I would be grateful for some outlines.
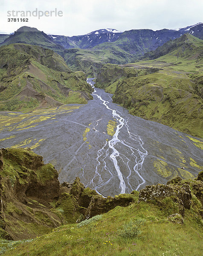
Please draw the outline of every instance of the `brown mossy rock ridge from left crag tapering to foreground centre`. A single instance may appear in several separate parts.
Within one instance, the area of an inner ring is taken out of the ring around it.
[[[0,149],[1,239],[40,236],[62,224],[76,223],[133,201],[135,196],[127,194],[103,198],[85,188],[79,178],[73,184],[60,185],[54,166],[45,165],[33,151]]]

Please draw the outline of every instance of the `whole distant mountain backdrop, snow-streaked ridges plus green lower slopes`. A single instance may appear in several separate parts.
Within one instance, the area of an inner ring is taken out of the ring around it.
[[[99,29],[72,37],[47,35],[38,29],[23,26],[13,35],[0,35],[0,46],[23,43],[52,49],[64,58],[72,70],[82,70],[87,75],[95,76],[104,63],[126,64],[137,61],[146,52],[183,34],[203,39],[203,23],[178,30],[132,29],[121,32],[116,29]]]

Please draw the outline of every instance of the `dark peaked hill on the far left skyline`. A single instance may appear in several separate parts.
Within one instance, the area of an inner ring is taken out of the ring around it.
[[[60,55],[62,55],[64,51],[64,47],[56,44],[53,39],[46,35],[43,31],[39,31],[38,29],[28,26],[23,26],[20,29],[17,29],[17,31],[15,31],[13,35],[6,38],[6,40],[3,41],[0,46],[15,43],[37,45],[51,49]]]

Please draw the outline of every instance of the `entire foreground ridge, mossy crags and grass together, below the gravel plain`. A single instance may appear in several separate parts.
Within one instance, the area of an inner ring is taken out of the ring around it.
[[[79,178],[60,185],[32,151],[7,148],[0,174],[2,255],[201,255],[203,172],[103,198]]]

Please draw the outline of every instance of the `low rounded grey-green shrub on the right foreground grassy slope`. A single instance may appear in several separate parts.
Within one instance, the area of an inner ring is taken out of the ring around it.
[[[133,238],[141,233],[140,227],[145,223],[145,219],[137,218],[124,224],[122,229],[118,230],[118,235],[126,238]]]

